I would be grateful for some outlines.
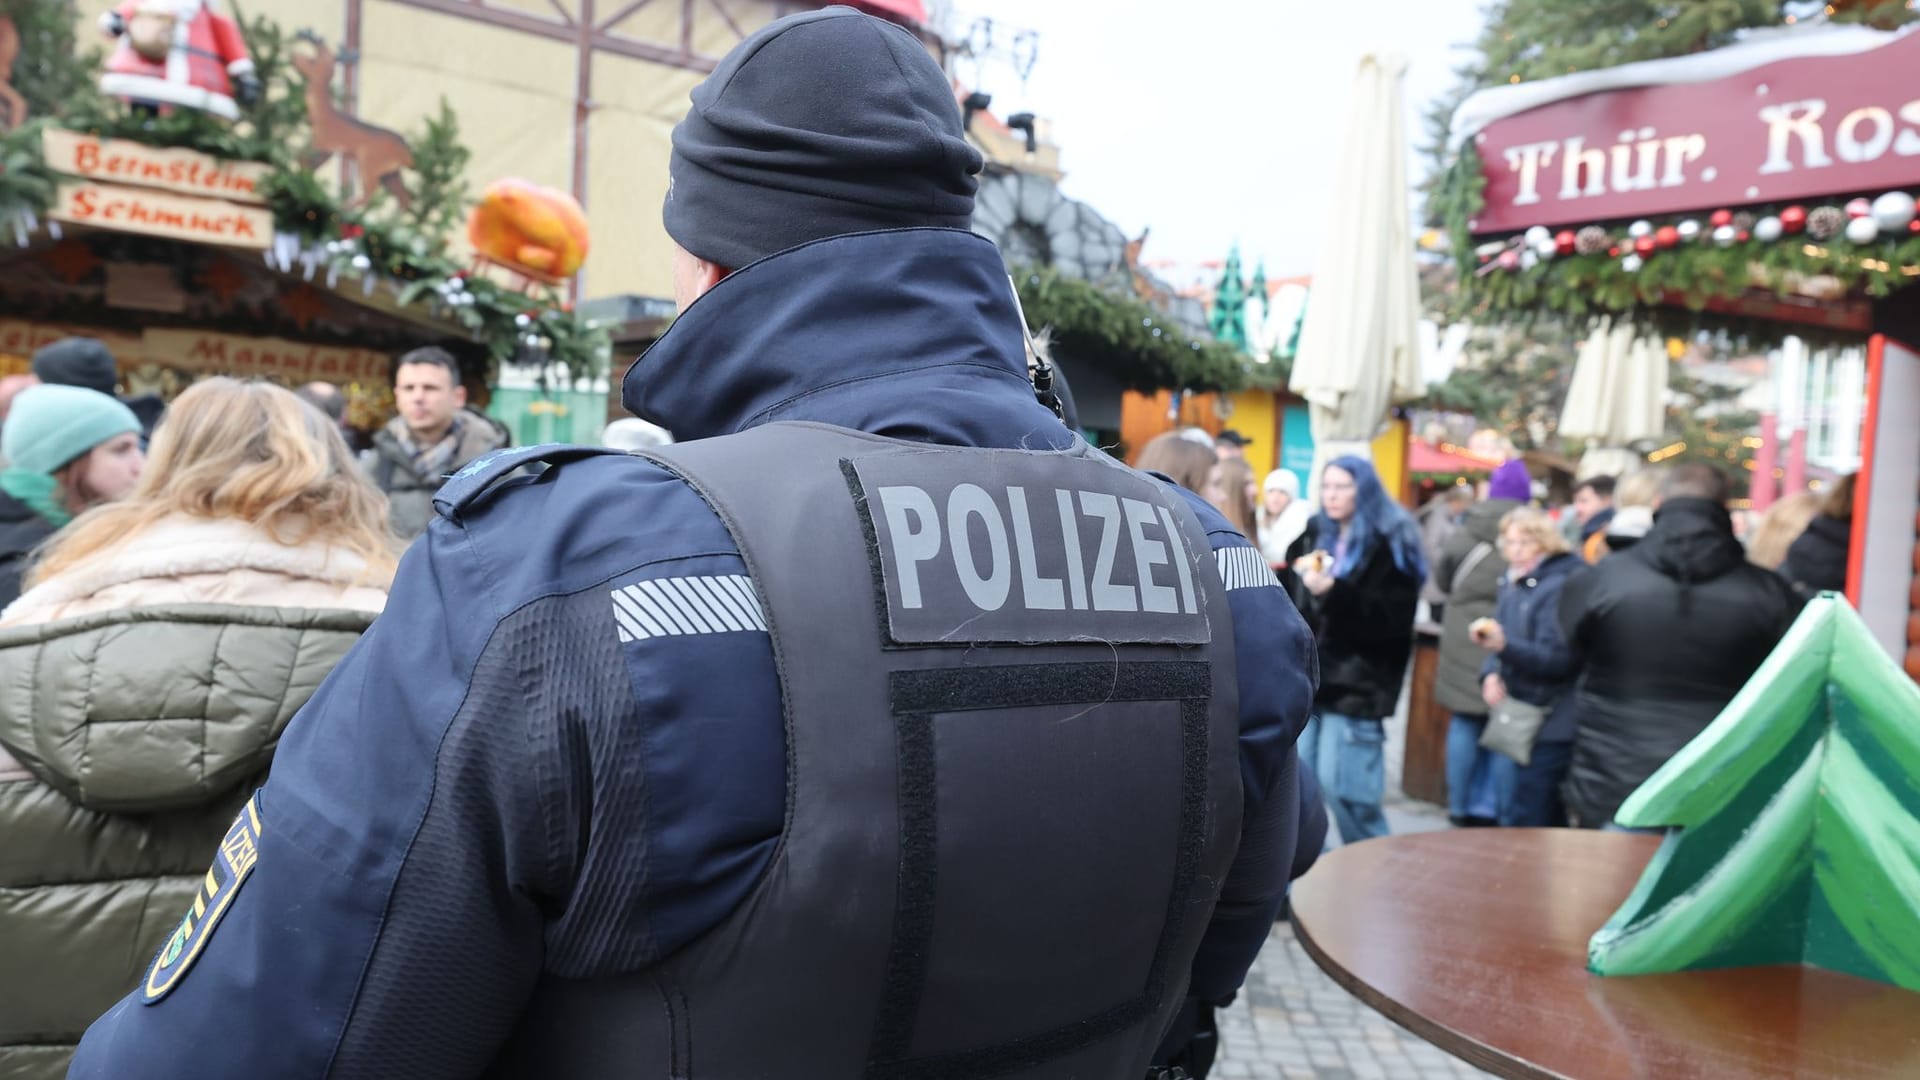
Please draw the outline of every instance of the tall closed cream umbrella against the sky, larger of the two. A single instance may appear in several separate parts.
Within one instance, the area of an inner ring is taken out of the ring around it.
[[[1419,279],[1407,211],[1407,138],[1398,54],[1359,60],[1346,115],[1346,146],[1313,296],[1300,329],[1292,392],[1313,423],[1313,477],[1342,454],[1371,457],[1388,407],[1421,396]]]

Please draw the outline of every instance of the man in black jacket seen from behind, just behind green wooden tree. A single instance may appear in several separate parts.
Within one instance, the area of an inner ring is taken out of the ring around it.
[[[1667,477],[1653,530],[1567,582],[1561,630],[1586,657],[1567,809],[1613,821],[1626,796],[1734,700],[1801,601],[1747,563],[1726,477],[1686,463]]]

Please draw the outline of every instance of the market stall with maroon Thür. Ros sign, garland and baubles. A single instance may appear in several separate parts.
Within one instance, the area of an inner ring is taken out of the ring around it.
[[[1484,311],[1624,313],[1665,332],[1799,342],[1803,413],[1859,363],[1849,600],[1920,676],[1920,35],[1809,25],[1676,60],[1482,90],[1442,202]],[[1789,361],[1791,361],[1789,356]],[[1843,405],[1841,405],[1843,407]],[[1828,432],[1832,434],[1832,430]],[[1791,488],[1807,434],[1757,475]]]

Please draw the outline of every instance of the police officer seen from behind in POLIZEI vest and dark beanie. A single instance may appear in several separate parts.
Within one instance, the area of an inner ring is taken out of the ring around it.
[[[1311,640],[1035,402],[979,167],[845,8],[693,90],[622,386],[693,442],[447,482],[73,1076],[1142,1076],[1235,992]]]

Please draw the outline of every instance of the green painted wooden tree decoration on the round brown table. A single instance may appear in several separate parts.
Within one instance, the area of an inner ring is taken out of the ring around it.
[[[1837,596],[1617,815],[1676,826],[1597,974],[1805,963],[1920,990],[1920,688]]]

